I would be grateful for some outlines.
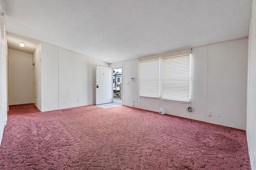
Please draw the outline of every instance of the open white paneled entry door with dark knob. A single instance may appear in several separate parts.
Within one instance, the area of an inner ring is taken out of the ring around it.
[[[111,103],[111,76],[111,68],[96,66],[96,105]]]

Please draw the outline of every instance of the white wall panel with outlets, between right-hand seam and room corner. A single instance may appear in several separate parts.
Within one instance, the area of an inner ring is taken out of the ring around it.
[[[246,129],[248,39],[207,46],[206,121]],[[221,117],[216,117],[221,111]]]

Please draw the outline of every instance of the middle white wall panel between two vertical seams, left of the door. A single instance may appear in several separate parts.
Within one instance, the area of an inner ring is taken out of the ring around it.
[[[60,109],[88,105],[88,57],[62,48],[59,55]]]

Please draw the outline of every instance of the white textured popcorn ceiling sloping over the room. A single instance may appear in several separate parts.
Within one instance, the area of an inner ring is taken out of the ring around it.
[[[251,2],[0,0],[0,5],[8,35],[114,63],[247,37]]]

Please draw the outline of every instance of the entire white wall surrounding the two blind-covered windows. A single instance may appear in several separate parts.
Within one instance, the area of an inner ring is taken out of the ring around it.
[[[134,99],[134,107],[141,109],[158,112],[164,106],[170,115],[246,129],[247,44],[244,38],[193,48],[191,104],[139,97],[138,59],[123,61],[124,105],[131,106]],[[131,77],[135,82],[130,82]],[[186,111],[190,105],[192,113]],[[217,117],[217,111],[222,117]]]

